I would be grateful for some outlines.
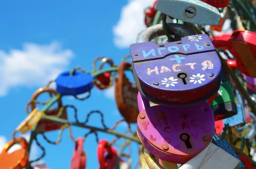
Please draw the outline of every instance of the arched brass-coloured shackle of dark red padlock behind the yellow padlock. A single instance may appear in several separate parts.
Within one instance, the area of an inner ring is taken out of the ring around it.
[[[45,93],[45,92],[53,94],[55,96],[58,95],[58,92],[56,92],[54,89],[51,89],[49,87],[41,87],[41,88],[37,89],[31,97],[31,100],[32,100],[32,102],[30,103],[31,110],[35,109],[34,100],[36,100],[39,95],[41,95],[42,93]],[[58,107],[60,108],[61,106],[62,106],[61,99],[59,99],[58,100]]]

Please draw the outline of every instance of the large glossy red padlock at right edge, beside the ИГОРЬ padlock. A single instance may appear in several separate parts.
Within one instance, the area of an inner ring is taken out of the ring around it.
[[[232,68],[239,69],[250,77],[256,77],[254,65],[256,65],[256,33],[250,31],[236,30],[233,34],[224,34],[212,38],[216,48],[228,49],[236,58]],[[227,63],[231,60],[227,60]],[[236,63],[236,64],[234,64]]]

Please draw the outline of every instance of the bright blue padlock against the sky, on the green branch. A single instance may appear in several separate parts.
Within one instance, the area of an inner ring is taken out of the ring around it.
[[[70,71],[62,72],[55,79],[56,90],[61,95],[80,95],[90,92],[93,88],[93,79],[91,74],[85,74],[78,70],[73,75],[70,75]]]

